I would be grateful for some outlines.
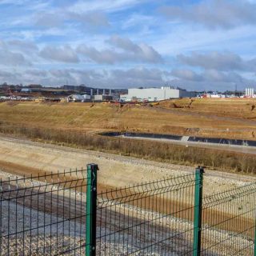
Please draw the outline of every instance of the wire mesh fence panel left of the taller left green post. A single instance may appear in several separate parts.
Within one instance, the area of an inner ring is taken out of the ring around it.
[[[84,255],[86,171],[0,180],[0,255]]]

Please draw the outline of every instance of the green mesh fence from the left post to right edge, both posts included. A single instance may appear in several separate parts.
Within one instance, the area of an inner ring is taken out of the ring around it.
[[[87,167],[86,255],[256,255],[256,183],[204,196],[198,167],[97,194]]]

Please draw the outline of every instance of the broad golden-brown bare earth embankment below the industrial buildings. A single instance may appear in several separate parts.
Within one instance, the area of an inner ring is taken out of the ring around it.
[[[256,140],[256,100],[178,99],[158,105],[2,102],[0,121],[62,130],[128,130]]]

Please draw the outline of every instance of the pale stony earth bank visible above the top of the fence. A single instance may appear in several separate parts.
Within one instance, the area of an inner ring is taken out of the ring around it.
[[[86,168],[87,163],[94,162],[100,168],[98,181],[101,184],[120,187],[194,171],[194,166],[178,166],[17,138],[0,137],[0,145],[0,170],[11,174],[57,172],[76,167],[80,169]],[[206,170],[204,193],[212,194],[253,181],[256,181],[255,176]]]

